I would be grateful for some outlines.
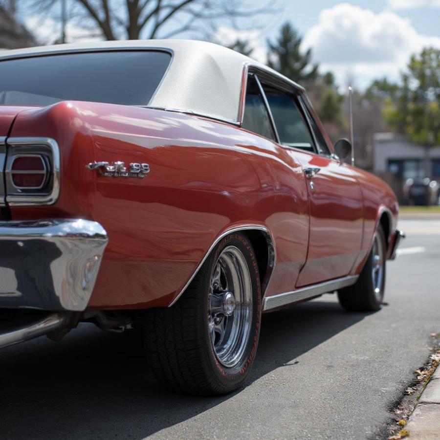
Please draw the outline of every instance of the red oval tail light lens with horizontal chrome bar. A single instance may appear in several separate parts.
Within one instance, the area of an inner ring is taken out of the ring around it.
[[[11,166],[12,182],[19,189],[43,188],[47,167],[39,154],[22,154],[14,158]]]

